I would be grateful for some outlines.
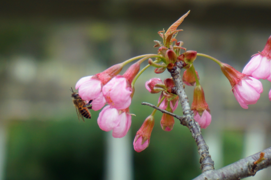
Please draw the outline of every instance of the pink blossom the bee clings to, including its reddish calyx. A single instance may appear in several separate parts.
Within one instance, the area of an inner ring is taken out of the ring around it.
[[[100,110],[105,105],[105,99],[101,92],[102,86],[116,76],[122,70],[122,67],[123,64],[116,64],[94,76],[83,77],[76,83],[75,89],[78,89],[78,94],[84,101],[93,100],[93,110]]]

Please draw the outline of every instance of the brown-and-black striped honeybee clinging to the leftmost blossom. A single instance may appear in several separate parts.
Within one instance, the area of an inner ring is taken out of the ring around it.
[[[71,88],[71,90],[73,92],[73,88]],[[76,113],[78,116],[78,120],[79,117],[83,119],[83,122],[85,122],[83,116],[87,119],[91,119],[91,114],[89,112],[89,109],[92,108],[91,107],[87,107],[90,105],[90,103],[92,102],[92,100],[89,101],[88,104],[86,104],[85,101],[82,100],[82,98],[79,96],[79,94],[77,92],[73,92],[72,94],[72,98],[73,98],[73,104],[76,107]]]

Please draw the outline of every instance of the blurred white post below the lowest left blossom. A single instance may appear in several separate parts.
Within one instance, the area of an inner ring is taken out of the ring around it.
[[[132,145],[130,131],[123,138],[106,136],[106,180],[132,180]]]

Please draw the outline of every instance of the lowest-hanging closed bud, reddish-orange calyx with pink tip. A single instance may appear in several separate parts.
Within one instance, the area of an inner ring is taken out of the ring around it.
[[[134,149],[136,152],[141,152],[149,146],[153,126],[154,117],[149,116],[147,119],[145,119],[143,125],[136,133],[134,140]]]

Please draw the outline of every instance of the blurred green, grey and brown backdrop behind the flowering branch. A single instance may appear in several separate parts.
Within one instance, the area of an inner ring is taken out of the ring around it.
[[[69,88],[81,77],[133,56],[157,53],[157,32],[188,10],[177,40],[239,71],[271,35],[269,0],[1,1],[0,180],[114,179],[108,165],[111,132],[99,129],[99,111],[78,121]],[[262,81],[260,100],[243,110],[215,63],[198,57],[195,68],[212,114],[211,125],[202,132],[215,167],[269,147],[270,82]],[[122,179],[193,179],[201,173],[197,146],[178,121],[165,132],[157,112],[149,147],[133,150],[136,131],[152,112],[141,102],[156,104],[159,97],[148,93],[145,82],[170,77],[153,70],[136,82],[130,107],[136,116],[126,137],[131,171]],[[192,102],[193,88],[185,90]],[[182,115],[180,106],[175,112]],[[271,176],[268,171],[258,174],[258,180]]]

